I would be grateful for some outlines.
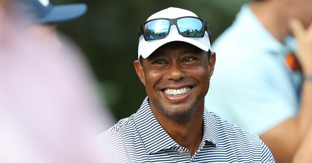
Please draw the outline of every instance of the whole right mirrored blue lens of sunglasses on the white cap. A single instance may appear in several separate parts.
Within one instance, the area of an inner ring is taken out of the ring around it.
[[[201,37],[202,21],[194,17],[184,17],[177,20],[179,31],[183,36]]]

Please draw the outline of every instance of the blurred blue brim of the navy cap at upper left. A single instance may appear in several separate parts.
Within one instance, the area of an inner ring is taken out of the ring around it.
[[[53,6],[43,17],[37,20],[38,23],[62,22],[82,16],[87,11],[86,4],[68,4]]]

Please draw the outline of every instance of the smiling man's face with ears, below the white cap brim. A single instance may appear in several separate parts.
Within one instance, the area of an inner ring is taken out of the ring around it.
[[[150,102],[170,116],[191,113],[203,102],[214,64],[215,53],[209,61],[207,52],[180,41],[159,47],[143,66],[134,62]]]

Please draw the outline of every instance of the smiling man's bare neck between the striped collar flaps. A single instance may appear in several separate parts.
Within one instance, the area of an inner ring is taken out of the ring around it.
[[[169,116],[150,102],[150,107],[163,129],[180,146],[187,148],[193,156],[203,137],[204,100],[186,116]]]

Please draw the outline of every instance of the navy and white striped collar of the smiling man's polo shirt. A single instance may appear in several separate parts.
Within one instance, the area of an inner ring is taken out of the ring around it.
[[[141,107],[137,113],[135,113],[133,120],[135,128],[149,154],[165,149],[180,147],[180,145],[178,145],[178,143],[175,142],[159,124],[149,106],[148,97],[144,99]],[[203,146],[206,141],[212,142],[217,146],[218,130],[216,124],[216,118],[205,108],[203,116],[204,135],[201,146]]]

